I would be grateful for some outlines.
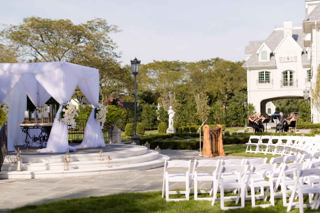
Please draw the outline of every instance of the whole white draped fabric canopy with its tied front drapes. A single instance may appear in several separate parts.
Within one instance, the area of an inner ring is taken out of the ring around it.
[[[66,103],[76,86],[94,107],[98,106],[99,72],[94,68],[68,62],[2,63],[0,64],[0,101],[4,100],[19,81],[35,106],[44,104],[50,96],[58,103]],[[11,106],[10,110],[14,107]],[[47,147],[39,150],[40,152],[66,152],[69,149],[68,127],[58,121],[61,110],[62,107],[57,111]],[[18,126],[20,120],[11,119],[11,113],[9,113],[8,123],[12,122]],[[81,146],[105,146],[100,122],[94,119],[94,109],[85,127]]]

